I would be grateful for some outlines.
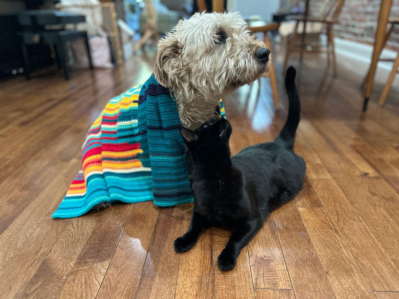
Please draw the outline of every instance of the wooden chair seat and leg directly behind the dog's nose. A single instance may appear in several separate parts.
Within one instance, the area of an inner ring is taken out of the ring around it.
[[[267,32],[270,30],[277,30],[278,27],[280,26],[279,23],[266,23],[264,21],[249,21],[248,22],[248,27],[247,29],[251,33],[255,32],[263,32],[264,36],[264,42],[266,44],[266,47],[270,50],[270,55],[269,59],[272,59],[272,49],[271,49],[271,44],[270,44],[270,39],[267,36]],[[270,64],[270,68],[267,74],[263,74],[263,77],[269,77],[270,78],[270,84],[271,88],[273,91],[273,100],[274,100],[274,106],[276,107],[277,110],[280,109],[280,104],[279,104],[279,99],[278,99],[278,90],[277,90],[277,81],[276,81],[276,72],[274,70],[274,63]]]

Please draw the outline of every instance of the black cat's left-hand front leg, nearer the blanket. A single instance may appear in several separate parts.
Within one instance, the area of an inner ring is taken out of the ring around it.
[[[209,228],[209,221],[198,212],[193,212],[191,216],[190,228],[183,236],[175,240],[175,251],[186,252],[193,248],[197,243],[200,234]]]

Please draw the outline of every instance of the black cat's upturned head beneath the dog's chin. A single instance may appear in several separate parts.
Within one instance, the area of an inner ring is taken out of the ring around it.
[[[231,135],[231,125],[224,118],[204,123],[195,131],[182,127],[180,134],[190,149],[194,163],[217,162],[230,158],[228,140]]]

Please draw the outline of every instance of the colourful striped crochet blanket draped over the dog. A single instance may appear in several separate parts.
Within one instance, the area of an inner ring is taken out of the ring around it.
[[[220,101],[216,112],[224,117]],[[154,75],[113,98],[91,126],[82,170],[53,218],[81,216],[101,202],[193,201],[176,102]]]

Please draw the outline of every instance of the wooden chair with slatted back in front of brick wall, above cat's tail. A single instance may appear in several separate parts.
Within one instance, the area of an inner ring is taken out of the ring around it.
[[[335,63],[335,50],[334,50],[334,31],[332,26],[338,22],[338,17],[341,13],[342,6],[344,5],[344,0],[326,0],[319,11],[317,16],[309,15],[309,0],[306,0],[305,4],[305,14],[303,15],[293,15],[290,16],[288,19],[295,20],[296,24],[294,27],[294,32],[291,38],[288,40],[287,45],[287,52],[285,55],[284,60],[284,68],[283,72],[287,68],[288,58],[292,51],[299,51],[300,52],[300,61],[303,58],[303,51],[308,49],[310,46],[310,51],[308,52],[327,52],[327,61],[328,64],[330,63],[330,54],[333,56],[333,72],[334,76],[337,74],[337,66]],[[303,22],[303,33],[301,35],[301,43],[299,45],[294,45],[293,40],[295,36],[298,34],[298,25],[300,22]],[[320,44],[316,45],[307,45],[305,44],[305,37],[306,37],[306,24],[308,22],[319,22],[326,25],[327,29],[327,48],[322,48]]]

